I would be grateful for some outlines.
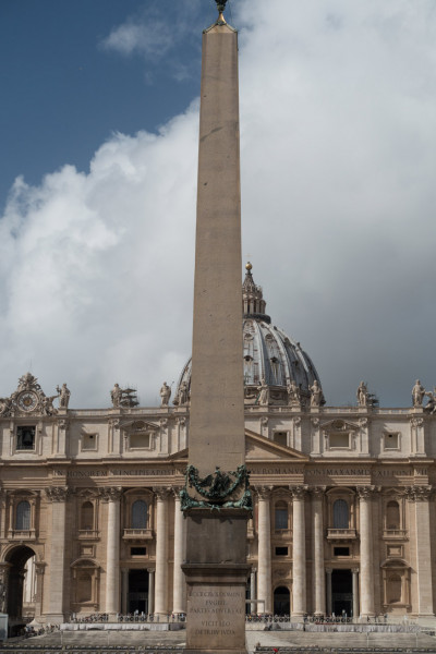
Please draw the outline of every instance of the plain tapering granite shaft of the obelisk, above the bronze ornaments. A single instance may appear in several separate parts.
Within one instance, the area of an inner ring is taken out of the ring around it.
[[[203,35],[190,463],[244,462],[238,35]]]

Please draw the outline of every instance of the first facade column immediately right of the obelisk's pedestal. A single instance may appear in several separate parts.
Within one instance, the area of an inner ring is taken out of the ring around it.
[[[269,488],[257,489],[257,600],[265,602],[265,608],[257,604],[258,613],[272,613],[271,603],[271,518]]]

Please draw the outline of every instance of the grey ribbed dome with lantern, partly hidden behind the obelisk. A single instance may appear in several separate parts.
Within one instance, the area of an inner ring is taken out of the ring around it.
[[[265,313],[262,288],[253,279],[252,265],[249,263],[245,268],[242,284],[245,403],[258,403],[259,386],[266,385],[268,404],[288,404],[288,389],[292,382],[300,390],[302,403],[305,403],[314,382],[320,386],[316,368],[300,342],[271,325],[271,318]],[[174,404],[187,403],[190,388],[191,359],[179,378]]]

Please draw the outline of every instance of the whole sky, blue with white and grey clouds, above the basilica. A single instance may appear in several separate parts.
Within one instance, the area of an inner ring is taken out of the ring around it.
[[[191,354],[213,0],[1,0],[0,397],[142,405]],[[230,0],[243,259],[327,404],[436,385],[434,0]],[[243,270],[241,270],[241,282]]]

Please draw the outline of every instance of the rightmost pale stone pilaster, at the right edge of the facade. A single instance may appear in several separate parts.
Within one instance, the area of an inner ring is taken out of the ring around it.
[[[434,617],[429,505],[431,486],[413,487],[416,519],[417,614]]]

